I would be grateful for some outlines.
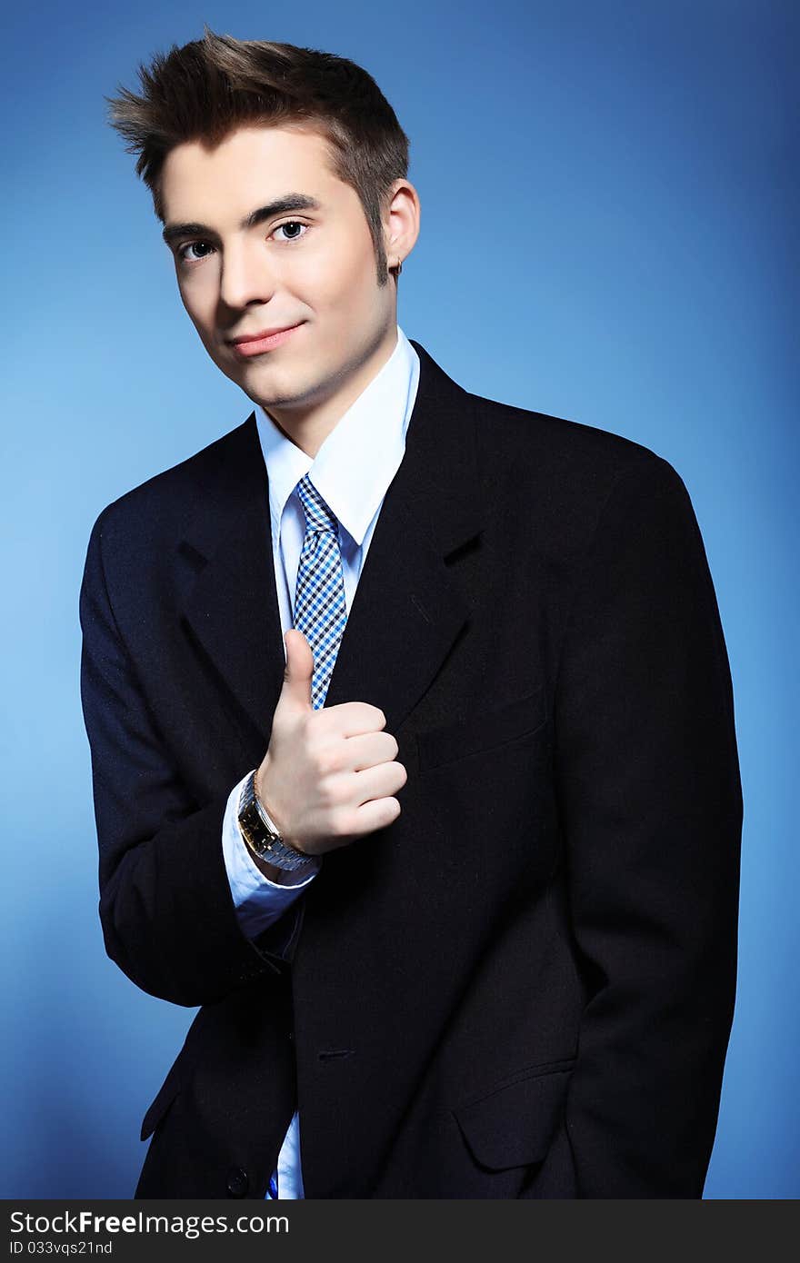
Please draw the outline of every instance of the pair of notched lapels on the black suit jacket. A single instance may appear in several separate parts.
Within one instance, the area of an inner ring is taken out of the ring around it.
[[[378,517],[326,706],[368,701],[396,731],[427,690],[469,608],[446,557],[482,525],[471,397],[417,344],[406,452]],[[221,441],[181,549],[197,571],[192,634],[264,744],[283,682],[269,488],[255,414]]]

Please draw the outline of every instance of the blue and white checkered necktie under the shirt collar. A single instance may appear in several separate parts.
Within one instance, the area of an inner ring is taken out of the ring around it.
[[[311,705],[318,710],[334,672],[336,653],[348,621],[345,581],[339,552],[339,523],[306,474],[297,484],[306,514],[306,537],[300,554],[294,589],[294,628],[313,653]],[[269,1178],[267,1197],[278,1196],[278,1172]]]

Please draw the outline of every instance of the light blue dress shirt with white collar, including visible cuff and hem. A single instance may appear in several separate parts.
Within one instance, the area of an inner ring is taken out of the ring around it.
[[[294,488],[305,474],[339,520],[339,547],[348,613],[385,493],[406,451],[406,431],[417,397],[420,356],[399,328],[387,362],[348,408],[312,458],[276,426],[260,405],[258,433],[269,476],[272,556],[281,610],[281,628],[293,621],[297,568],[306,519]],[[286,653],[286,645],[284,645]],[[358,700],[358,698],[355,698]],[[249,773],[248,773],[249,775]],[[259,871],[236,821],[239,796],[246,777],[230,792],[222,821],[222,854],[239,923],[254,938],[293,903],[320,870],[315,861],[298,879],[287,873],[282,884]],[[278,1154],[278,1196],[303,1196],[297,1110]]]

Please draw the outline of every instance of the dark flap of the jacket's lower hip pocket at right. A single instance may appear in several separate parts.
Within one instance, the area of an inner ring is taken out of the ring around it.
[[[517,1076],[452,1113],[482,1167],[503,1171],[541,1162],[564,1111],[575,1058]]]

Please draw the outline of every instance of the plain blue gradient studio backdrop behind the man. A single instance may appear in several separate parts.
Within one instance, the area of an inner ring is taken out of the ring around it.
[[[0,1194],[124,1197],[192,1013],[97,919],[77,597],[110,500],[231,429],[104,95],[202,34],[364,64],[411,136],[399,321],[470,390],[612,429],[684,477],[727,634],[746,802],[741,967],[708,1197],[796,1197],[799,6],[770,0],[39,4],[4,157]],[[6,19],[8,23],[8,19]],[[39,330],[40,332],[37,332]]]

